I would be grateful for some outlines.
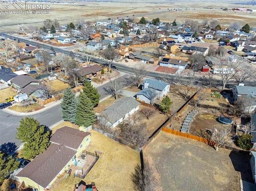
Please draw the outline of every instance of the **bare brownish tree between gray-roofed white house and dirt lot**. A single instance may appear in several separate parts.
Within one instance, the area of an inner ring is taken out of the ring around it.
[[[132,115],[120,124],[120,138],[124,144],[142,147],[147,142],[146,123],[140,123],[136,115]]]

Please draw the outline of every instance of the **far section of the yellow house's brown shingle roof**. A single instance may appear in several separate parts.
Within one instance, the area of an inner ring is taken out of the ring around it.
[[[64,144],[73,149],[78,149],[84,138],[92,133],[83,132],[75,128],[64,126],[53,134],[50,142]]]

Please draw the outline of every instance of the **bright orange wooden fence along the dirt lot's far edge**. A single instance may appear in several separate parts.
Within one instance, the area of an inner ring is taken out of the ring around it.
[[[208,140],[206,138],[198,137],[198,136],[191,135],[191,134],[188,134],[188,133],[182,133],[180,131],[168,129],[168,128],[165,128],[165,127],[162,128],[162,131],[166,132],[166,133],[170,133],[170,134],[176,135],[176,136],[180,136],[180,137],[184,137],[184,138],[200,141],[200,142],[206,143],[208,145],[215,145],[215,142],[212,141],[212,140]]]

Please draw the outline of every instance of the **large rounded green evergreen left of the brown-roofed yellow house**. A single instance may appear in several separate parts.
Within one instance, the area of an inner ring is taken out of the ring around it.
[[[24,143],[21,152],[24,159],[35,158],[50,145],[50,131],[46,131],[45,126],[40,125],[38,120],[34,120],[34,118],[22,118],[17,131],[16,139]]]

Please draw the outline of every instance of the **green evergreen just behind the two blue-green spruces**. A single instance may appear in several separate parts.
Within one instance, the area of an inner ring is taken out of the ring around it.
[[[84,82],[82,93],[90,99],[93,107],[96,107],[99,104],[100,94],[98,93],[98,90],[94,88],[89,81]]]

